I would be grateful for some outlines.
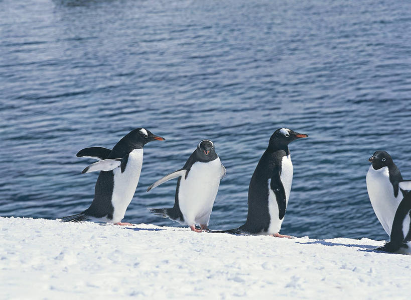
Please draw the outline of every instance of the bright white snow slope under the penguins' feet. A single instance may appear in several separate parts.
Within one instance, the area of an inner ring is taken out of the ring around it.
[[[0,218],[0,298],[409,298],[383,241]]]

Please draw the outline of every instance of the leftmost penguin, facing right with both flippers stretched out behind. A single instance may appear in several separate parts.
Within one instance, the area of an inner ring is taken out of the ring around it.
[[[112,150],[91,147],[80,150],[78,157],[92,157],[99,162],[82,173],[100,171],[94,189],[94,199],[84,212],[62,218],[62,222],[80,222],[94,217],[116,225],[121,223],[139,182],[143,165],[143,147],[151,141],[163,141],[149,130],[137,128],[124,136]]]

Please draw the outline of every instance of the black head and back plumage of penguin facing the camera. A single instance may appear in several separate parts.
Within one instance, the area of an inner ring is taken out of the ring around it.
[[[187,179],[187,176],[191,170],[191,167],[196,162],[209,162],[217,159],[217,153],[215,153],[214,144],[209,140],[202,140],[198,143],[196,150],[191,153],[190,157],[187,159],[186,163],[180,170],[187,170],[186,175],[184,176]],[[172,209],[168,210],[168,215],[170,219],[184,222],[183,214],[180,211],[179,198],[178,194],[180,191],[180,182],[181,177],[177,179],[176,194],[174,196],[174,206]]]

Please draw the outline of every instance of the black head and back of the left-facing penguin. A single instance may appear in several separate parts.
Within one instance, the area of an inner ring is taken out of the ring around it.
[[[386,151],[375,151],[372,157],[369,159],[372,162],[372,167],[378,170],[383,167],[388,167],[389,181],[394,189],[394,196],[398,196],[398,190],[400,189],[398,184],[403,181],[401,172],[395,165],[391,156]],[[402,190],[402,195],[405,196],[406,191]]]

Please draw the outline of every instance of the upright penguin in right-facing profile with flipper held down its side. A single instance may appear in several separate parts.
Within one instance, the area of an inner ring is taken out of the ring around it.
[[[248,188],[248,214],[245,224],[236,229],[213,231],[234,234],[279,234],[286,214],[293,181],[293,163],[288,144],[308,135],[288,128],[277,129],[269,139],[252,174]]]

